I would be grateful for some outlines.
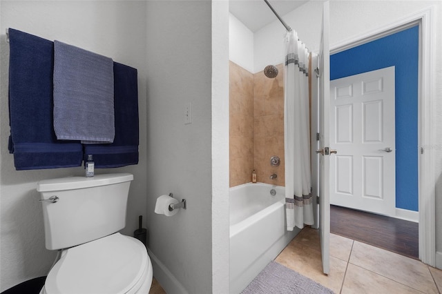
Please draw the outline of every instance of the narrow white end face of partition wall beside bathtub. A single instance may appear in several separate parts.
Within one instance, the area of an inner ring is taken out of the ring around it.
[[[212,293],[229,293],[228,15],[228,1],[212,1]]]

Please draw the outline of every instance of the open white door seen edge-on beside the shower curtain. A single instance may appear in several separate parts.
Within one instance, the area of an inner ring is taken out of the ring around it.
[[[320,251],[323,259],[323,272],[330,271],[330,204],[329,204],[329,89],[330,89],[330,50],[329,50],[329,2],[323,6],[323,25],[318,56],[318,133],[319,147],[323,155],[319,158],[319,236]]]

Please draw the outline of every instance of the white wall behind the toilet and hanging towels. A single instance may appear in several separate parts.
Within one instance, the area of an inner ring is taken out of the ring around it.
[[[55,253],[44,247],[41,206],[35,191],[41,179],[84,175],[84,169],[21,170],[8,153],[8,60],[6,28],[97,52],[138,70],[140,164],[95,173],[135,176],[122,233],[132,235],[138,215],[146,216],[146,2],[144,1],[1,1],[0,2],[0,291],[46,275]]]

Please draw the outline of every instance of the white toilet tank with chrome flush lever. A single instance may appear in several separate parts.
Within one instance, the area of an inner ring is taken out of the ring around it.
[[[46,248],[57,250],[111,235],[126,226],[130,173],[64,177],[37,183],[42,200]]]

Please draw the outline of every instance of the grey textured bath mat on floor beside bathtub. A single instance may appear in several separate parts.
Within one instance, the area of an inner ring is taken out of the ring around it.
[[[334,293],[329,288],[296,273],[277,262],[270,262],[241,294]]]

